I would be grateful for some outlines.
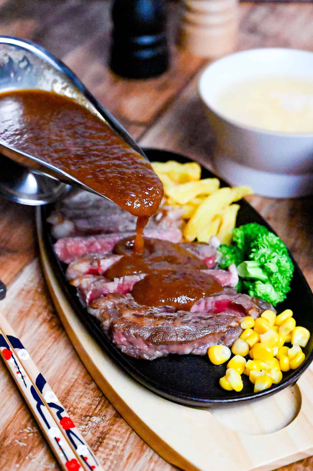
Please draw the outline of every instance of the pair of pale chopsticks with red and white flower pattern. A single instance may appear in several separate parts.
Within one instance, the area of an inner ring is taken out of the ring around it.
[[[102,471],[74,422],[0,312],[0,355],[64,471]]]

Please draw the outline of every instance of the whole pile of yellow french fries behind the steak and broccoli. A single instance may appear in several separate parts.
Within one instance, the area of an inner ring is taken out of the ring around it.
[[[219,188],[217,178],[200,180],[201,167],[196,162],[153,162],[152,167],[164,186],[165,205],[180,208],[181,230],[188,242],[209,242],[217,235],[222,244],[230,244],[238,204],[250,187]]]

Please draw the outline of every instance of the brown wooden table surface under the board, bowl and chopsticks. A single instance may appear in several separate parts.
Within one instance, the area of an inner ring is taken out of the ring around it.
[[[110,72],[107,1],[0,0],[0,34],[30,39],[62,58],[142,145],[181,152],[210,168],[213,140],[196,93],[199,73],[207,61],[176,48],[178,3],[168,2],[168,10],[171,68],[147,81],[123,80]],[[282,46],[313,50],[313,4],[246,2],[240,5],[240,18],[239,49]],[[289,246],[313,288],[313,199],[249,199]],[[8,299],[2,304],[5,315],[104,470],[176,469],[129,427],[87,373],[47,292],[38,259],[34,209],[3,198],[0,278],[9,287]],[[0,469],[59,469],[2,363]],[[280,469],[313,469],[313,457]]]

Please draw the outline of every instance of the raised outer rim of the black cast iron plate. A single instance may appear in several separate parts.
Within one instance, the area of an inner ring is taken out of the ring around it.
[[[165,161],[165,160],[177,160],[178,162],[192,162],[192,159],[182,155],[178,154],[172,151],[167,151],[164,149],[157,149],[157,148],[144,148],[143,149],[145,153],[147,154],[155,154],[152,158],[149,157],[149,160],[160,160],[160,161]],[[166,158],[164,157],[166,155]],[[203,171],[209,172],[212,174],[212,176],[215,176],[212,172],[207,171],[203,166],[202,166]],[[228,186],[223,179],[220,179],[221,185],[223,186]],[[258,218],[263,220],[263,224],[268,227],[270,230],[274,232],[272,227],[269,226],[269,224],[266,222],[265,219],[263,219],[260,214],[254,210],[252,206],[250,206],[249,203],[245,201],[241,201],[241,204],[243,206],[248,206],[250,210],[257,216]],[[49,205],[51,207],[53,205]],[[254,400],[262,399],[267,396],[270,396],[272,394],[275,394],[276,392],[279,392],[283,390],[284,388],[288,386],[294,386],[294,384],[297,382],[297,379],[301,376],[301,374],[304,373],[306,368],[310,365],[310,363],[313,361],[313,349],[310,351],[310,353],[307,355],[305,358],[305,361],[300,365],[297,370],[294,370],[294,372],[291,374],[289,378],[283,379],[282,382],[272,386],[270,389],[261,391],[258,393],[252,393],[250,394],[249,392],[246,395],[241,395],[241,396],[233,396],[231,398],[196,398],[192,397],[188,394],[184,394],[180,391],[173,390],[170,387],[162,386],[163,389],[160,389],[160,385],[158,385],[156,382],[151,380],[150,378],[147,378],[145,374],[139,373],[138,370],[133,367],[133,365],[130,365],[127,363],[127,358],[129,358],[127,355],[123,354],[117,347],[114,346],[114,344],[105,337],[105,335],[102,333],[100,330],[99,325],[95,322],[94,318],[91,315],[86,316],[86,310],[83,308],[83,306],[79,303],[78,298],[73,295],[72,292],[70,292],[71,286],[67,282],[64,271],[62,268],[61,263],[55,256],[55,252],[53,251],[53,241],[52,237],[50,235],[50,231],[45,230],[48,228],[48,225],[46,223],[46,211],[47,207],[42,206],[40,207],[40,215],[41,215],[41,220],[42,220],[42,227],[43,227],[43,242],[46,248],[48,260],[50,262],[50,265],[54,268],[55,271],[55,276],[57,277],[59,284],[63,290],[63,293],[65,294],[67,300],[69,301],[72,309],[74,312],[78,313],[79,319],[83,322],[84,325],[86,325],[89,333],[96,338],[96,341],[100,344],[102,348],[105,349],[106,353],[109,354],[111,358],[114,359],[114,361],[121,366],[131,377],[133,377],[136,381],[140,382],[143,386],[148,388],[149,390],[153,391],[157,395],[172,400],[174,402],[178,402],[183,405],[188,405],[188,406],[201,406],[201,407],[210,407],[212,405],[229,405],[232,403],[240,403],[242,401],[245,402],[251,402]],[[291,259],[293,263],[295,264],[295,272],[297,271],[297,276],[300,277],[301,284],[306,288],[307,292],[310,293],[311,297],[311,303],[313,307],[313,294],[312,291],[307,284],[305,277],[298,267],[297,263],[293,259],[292,255],[290,254]],[[168,357],[167,357],[168,358]],[[149,360],[146,360],[149,361]],[[157,360],[152,360],[152,361],[157,361]],[[233,393],[233,391],[231,391]]]

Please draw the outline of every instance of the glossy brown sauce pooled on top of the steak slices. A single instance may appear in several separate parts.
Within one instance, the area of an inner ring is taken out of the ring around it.
[[[136,253],[133,251],[134,240],[130,237],[115,245],[113,252],[123,257],[105,272],[105,276],[113,280],[145,273],[132,290],[133,298],[139,304],[189,310],[196,300],[223,291],[213,276],[201,271],[207,268],[204,261],[181,245],[143,239],[143,251]]]

